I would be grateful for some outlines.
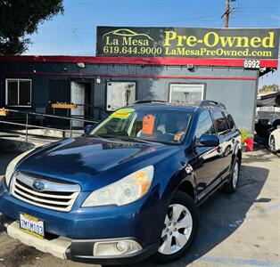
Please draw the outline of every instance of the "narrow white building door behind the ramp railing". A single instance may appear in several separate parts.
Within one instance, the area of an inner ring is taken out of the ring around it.
[[[71,82],[71,103],[78,105],[77,109],[71,109],[71,117],[85,117],[86,85],[78,82]],[[84,127],[84,122],[73,120],[73,127]]]

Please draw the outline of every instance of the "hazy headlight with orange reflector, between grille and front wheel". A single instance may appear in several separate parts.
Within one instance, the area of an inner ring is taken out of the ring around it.
[[[142,198],[150,189],[153,178],[153,166],[146,166],[133,174],[113,182],[102,189],[92,192],[82,207],[123,206]]]

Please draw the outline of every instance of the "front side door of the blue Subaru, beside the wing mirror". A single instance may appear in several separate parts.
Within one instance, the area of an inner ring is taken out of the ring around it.
[[[198,118],[194,133],[194,143],[198,142],[202,134],[216,134],[210,110],[203,110]],[[194,158],[190,164],[194,168],[197,181],[198,198],[203,198],[218,182],[219,159],[218,147],[200,147],[194,145]]]

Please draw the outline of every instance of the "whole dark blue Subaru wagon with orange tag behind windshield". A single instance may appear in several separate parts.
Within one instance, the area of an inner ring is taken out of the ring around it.
[[[167,263],[191,247],[198,206],[235,192],[241,159],[241,134],[218,102],[135,104],[14,158],[0,179],[1,223],[62,259]]]

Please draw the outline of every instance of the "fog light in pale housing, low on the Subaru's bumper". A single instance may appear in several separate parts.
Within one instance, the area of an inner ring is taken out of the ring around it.
[[[135,240],[101,241],[94,246],[94,256],[129,255],[142,250]]]

